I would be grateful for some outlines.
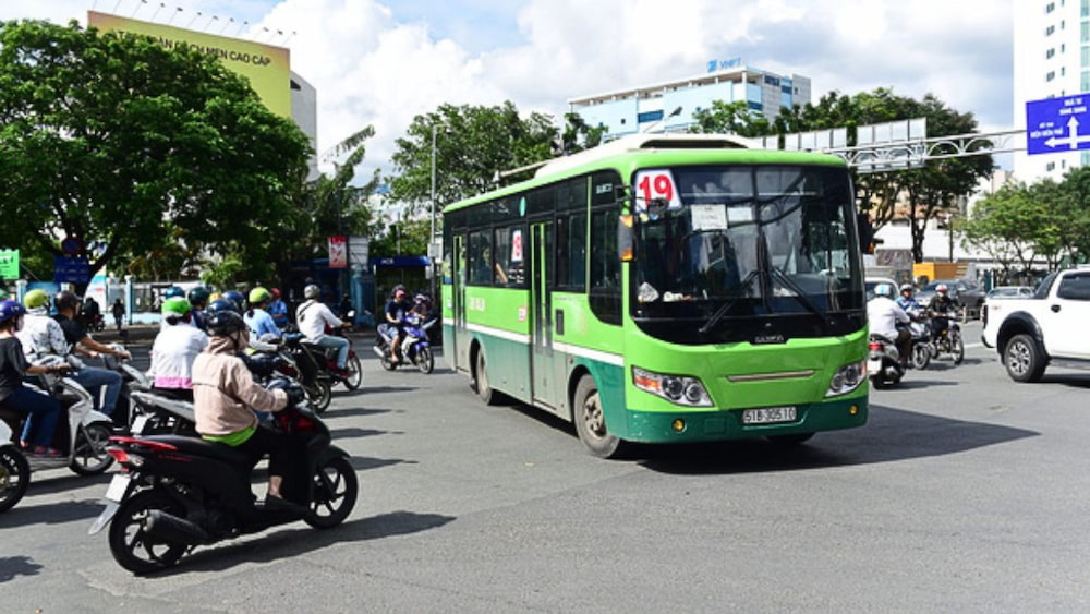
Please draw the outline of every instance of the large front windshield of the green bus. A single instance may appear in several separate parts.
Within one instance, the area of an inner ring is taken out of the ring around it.
[[[637,200],[637,322],[681,318],[706,336],[731,320],[828,321],[863,309],[844,169],[732,165],[654,172],[657,185],[671,182],[665,185],[676,196]]]

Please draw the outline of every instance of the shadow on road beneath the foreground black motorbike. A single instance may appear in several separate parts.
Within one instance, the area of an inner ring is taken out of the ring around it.
[[[194,571],[222,571],[246,563],[289,561],[293,556],[341,543],[363,542],[407,535],[437,529],[455,520],[441,514],[392,511],[372,518],[361,518],[327,531],[316,531],[302,522],[256,539],[242,539],[214,547],[197,550],[182,558],[177,567],[148,576],[164,578]]]

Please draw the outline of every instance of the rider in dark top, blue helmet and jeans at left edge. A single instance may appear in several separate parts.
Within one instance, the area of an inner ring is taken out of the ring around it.
[[[17,301],[0,302],[0,405],[20,413],[29,413],[23,426],[22,445],[32,455],[59,457],[61,453],[49,447],[57,429],[61,405],[57,399],[23,385],[23,376],[55,373],[66,370],[68,364],[49,366],[31,365],[23,353],[23,344],[15,336],[23,326],[26,309]]]

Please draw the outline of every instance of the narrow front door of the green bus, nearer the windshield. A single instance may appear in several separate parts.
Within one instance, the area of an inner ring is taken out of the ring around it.
[[[553,221],[530,226],[530,334],[533,337],[530,356],[534,402],[555,408],[553,376],[553,300],[549,282],[553,253]]]

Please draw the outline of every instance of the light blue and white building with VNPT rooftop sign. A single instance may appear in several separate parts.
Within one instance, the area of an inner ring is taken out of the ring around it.
[[[747,67],[739,59],[708,62],[707,72],[689,79],[607,92],[568,100],[588,125],[604,125],[606,139],[638,132],[681,132],[715,100],[744,100],[772,120],[780,107],[810,103],[810,77],[785,76]]]

